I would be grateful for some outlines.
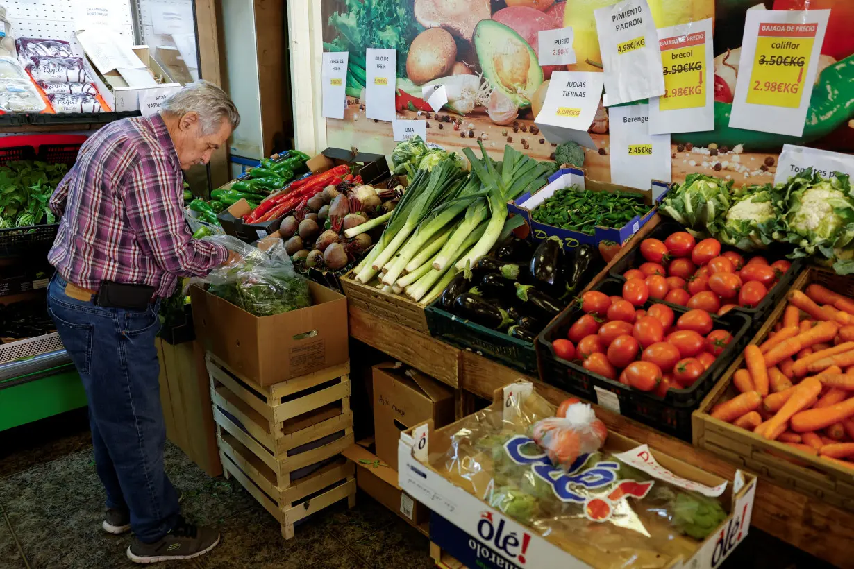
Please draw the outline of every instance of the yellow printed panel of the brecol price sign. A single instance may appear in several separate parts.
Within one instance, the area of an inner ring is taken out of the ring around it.
[[[660,40],[661,62],[664,67],[664,96],[658,108],[705,106],[705,32]]]

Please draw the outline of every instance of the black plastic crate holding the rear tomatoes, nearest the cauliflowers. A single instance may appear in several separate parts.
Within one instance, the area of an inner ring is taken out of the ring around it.
[[[664,241],[668,235],[676,233],[678,231],[684,231],[685,228],[682,227],[681,224],[676,223],[675,221],[663,221],[661,224],[658,224],[658,227],[652,229],[649,235],[646,235],[646,238],[650,239],[658,239],[660,241]],[[699,240],[698,240],[699,241]],[[789,249],[785,247],[783,244],[779,244],[776,247],[772,247],[770,249],[766,249],[763,251],[756,251],[753,253],[746,253],[744,251],[740,251],[740,249],[736,249],[735,247],[727,247],[726,245],[721,246],[721,253],[725,253],[727,251],[734,251],[735,253],[739,253],[745,257],[756,254],[762,255],[764,258],[769,260],[769,263],[773,263],[774,261],[780,259],[786,259],[786,253],[788,253]],[[625,282],[625,278],[623,278],[623,273],[625,273],[629,269],[636,269],[646,262],[646,259],[640,254],[640,241],[632,247],[632,250],[629,251],[623,258],[617,259],[617,261],[611,265],[611,277],[619,279],[620,282]],[[771,311],[774,310],[774,306],[777,304],[777,301],[787,293],[789,287],[792,286],[792,282],[795,279],[795,276],[798,276],[798,273],[803,269],[803,263],[800,259],[791,260],[792,266],[789,267],[789,270],[781,276],[780,281],[769,290],[768,294],[765,295],[765,298],[762,299],[756,308],[742,308],[738,306],[733,309],[733,311],[740,312],[747,316],[751,322],[751,329],[756,330],[765,320],[768,318]],[[664,302],[664,300],[659,300],[658,302]],[[664,302],[664,304],[669,305],[670,308],[678,308],[679,305],[675,305],[670,302]]]

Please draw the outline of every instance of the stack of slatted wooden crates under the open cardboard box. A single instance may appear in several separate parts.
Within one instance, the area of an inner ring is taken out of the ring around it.
[[[355,503],[349,363],[259,386],[208,352],[213,418],[226,478],[234,477],[282,525],[347,498]]]

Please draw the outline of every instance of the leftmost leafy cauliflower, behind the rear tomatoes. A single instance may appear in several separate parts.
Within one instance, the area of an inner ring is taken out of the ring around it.
[[[732,180],[689,174],[684,183],[670,190],[659,210],[695,237],[714,235],[718,218],[723,218],[729,209],[732,185]]]

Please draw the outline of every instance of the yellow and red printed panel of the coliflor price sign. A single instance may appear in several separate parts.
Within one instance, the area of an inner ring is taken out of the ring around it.
[[[759,25],[747,102],[800,107],[817,29],[817,24]]]

